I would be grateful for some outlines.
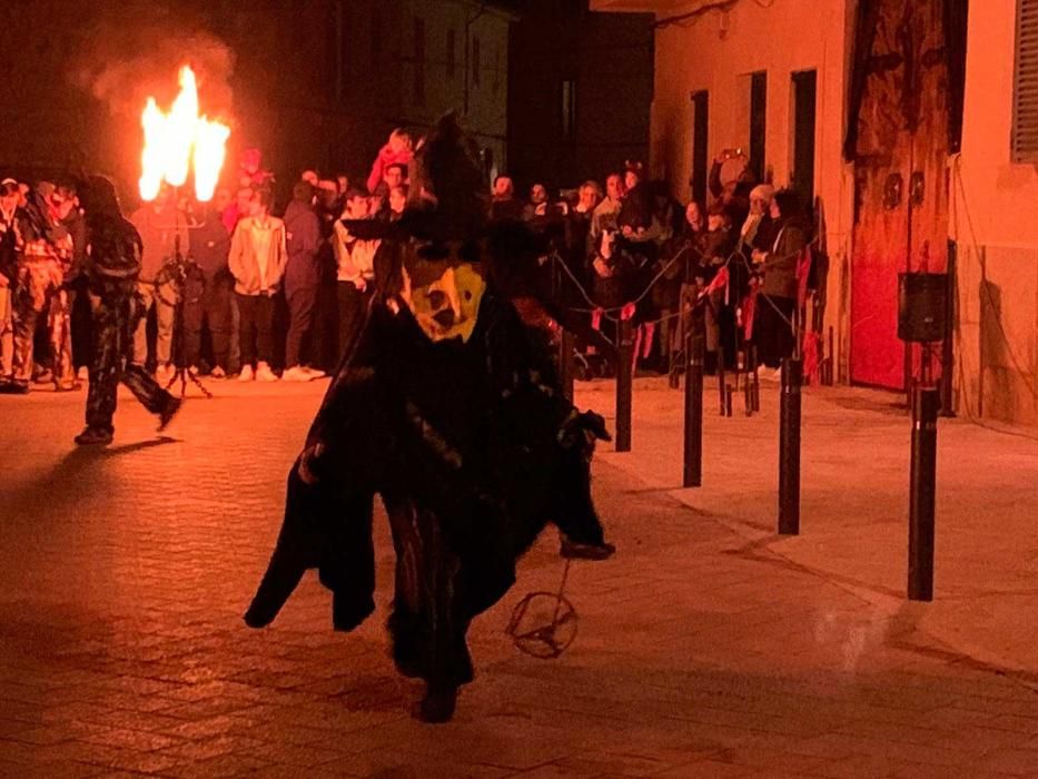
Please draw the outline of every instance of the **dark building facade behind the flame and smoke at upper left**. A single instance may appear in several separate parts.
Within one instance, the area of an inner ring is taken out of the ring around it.
[[[421,135],[462,111],[504,164],[508,3],[478,0],[126,0],[7,3],[0,37],[0,167],[83,166],[130,195],[147,95],[199,71],[201,109],[233,127],[229,159],[259,147],[279,179],[305,168],[355,180],[389,131]],[[29,45],[27,45],[29,43]]]

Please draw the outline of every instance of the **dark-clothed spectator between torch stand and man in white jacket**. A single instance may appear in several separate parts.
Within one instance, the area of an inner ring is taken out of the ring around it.
[[[202,325],[209,328],[212,364],[209,375],[224,378],[230,359],[230,297],[234,279],[227,268],[230,234],[218,206],[210,206],[200,225],[191,229],[190,255],[194,266],[184,289],[184,357],[196,368],[201,363]]]

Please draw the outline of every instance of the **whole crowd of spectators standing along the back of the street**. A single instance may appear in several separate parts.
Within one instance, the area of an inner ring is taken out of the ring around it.
[[[612,325],[630,318],[639,358],[668,369],[689,300],[704,304],[708,367],[749,343],[773,367],[791,352],[810,224],[791,191],[758,184],[745,165],[722,180],[735,157],[718,158],[709,207],[676,201],[634,161],[604,188],[533,183],[520,198],[507,176],[493,181],[493,219],[544,237],[543,274],[531,283],[579,334],[585,361],[614,362]],[[142,204],[131,218],[144,246],[134,362],[160,383],[177,365],[241,382],[309,382],[334,369],[374,289],[378,248],[344,219],[401,218],[412,158],[411,137],[396,130],[362,184],[303,171],[280,217],[256,150],[243,156],[237,188],[209,204],[171,189]],[[70,391],[87,378],[90,323],[76,312],[88,252],[73,185],[0,185],[0,392]]]

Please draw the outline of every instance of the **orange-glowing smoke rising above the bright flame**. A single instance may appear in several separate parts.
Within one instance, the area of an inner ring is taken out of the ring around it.
[[[190,65],[198,77],[202,112],[210,119],[233,118],[234,52],[207,29],[190,2],[122,0],[91,6],[70,78],[113,116],[139,117],[148,96],[168,106],[178,90],[180,67]]]

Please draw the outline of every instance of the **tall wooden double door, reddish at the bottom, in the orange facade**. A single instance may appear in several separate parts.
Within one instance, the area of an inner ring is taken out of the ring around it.
[[[948,72],[942,0],[876,1],[858,116],[851,381],[902,389],[912,353],[897,337],[898,274],[947,265]]]

